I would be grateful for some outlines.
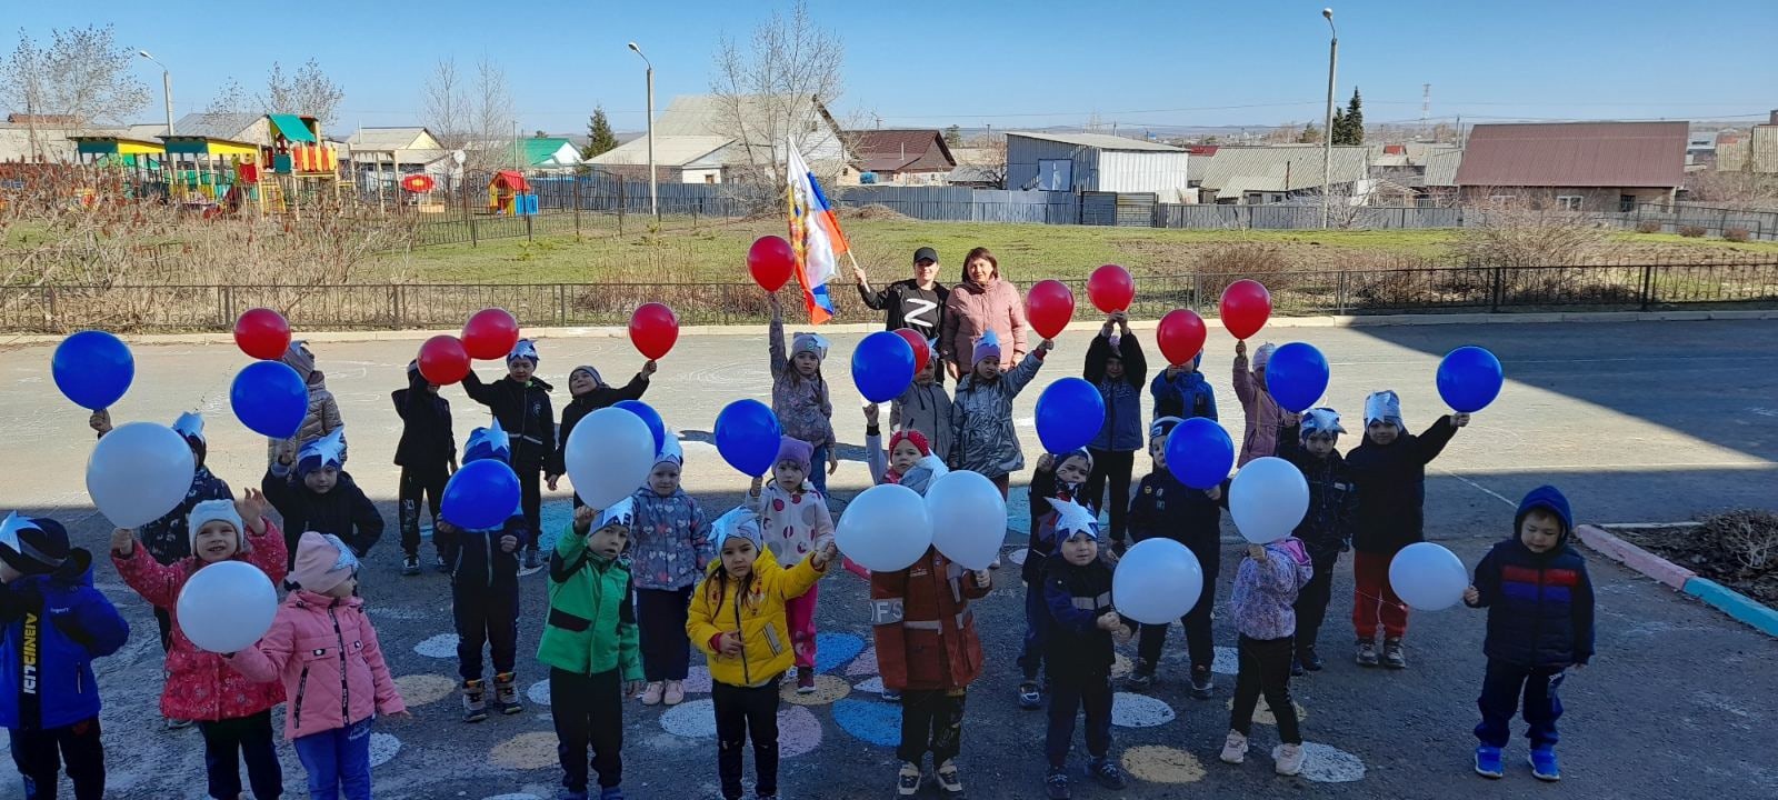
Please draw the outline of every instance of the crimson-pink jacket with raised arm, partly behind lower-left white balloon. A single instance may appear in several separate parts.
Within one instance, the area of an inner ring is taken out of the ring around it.
[[[272,585],[284,580],[284,535],[265,521],[265,533],[247,535],[247,551],[235,555],[236,562],[260,567]],[[197,556],[187,556],[172,564],[160,564],[148,555],[142,542],[128,556],[112,553],[112,564],[123,581],[140,594],[142,599],[178,612],[180,590],[203,564]],[[172,617],[172,649],[167,651],[167,688],[160,692],[160,713],[172,720],[236,720],[252,716],[272,706],[284,702],[284,688],[276,683],[258,683],[228,667],[228,661],[215,654],[199,651],[192,640],[185,638],[178,615]]]

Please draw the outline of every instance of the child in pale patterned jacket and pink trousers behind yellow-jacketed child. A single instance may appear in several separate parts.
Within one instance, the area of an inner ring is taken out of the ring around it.
[[[754,478],[747,492],[747,508],[759,516],[765,546],[781,564],[795,564],[834,539],[834,514],[827,510],[827,496],[809,485],[809,443],[789,436],[779,439],[779,455],[772,464],[772,484],[761,487]],[[814,603],[820,587],[797,592],[784,604],[789,624],[789,642],[797,651],[797,693],[814,693]],[[695,638],[693,638],[695,642]]]

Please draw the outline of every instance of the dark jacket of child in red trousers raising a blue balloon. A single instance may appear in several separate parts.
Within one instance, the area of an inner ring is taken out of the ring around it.
[[[1346,453],[1358,489],[1358,523],[1351,546],[1362,553],[1394,555],[1426,539],[1426,464],[1451,443],[1456,427],[1440,416],[1424,434],[1403,430],[1387,446],[1371,437]]]

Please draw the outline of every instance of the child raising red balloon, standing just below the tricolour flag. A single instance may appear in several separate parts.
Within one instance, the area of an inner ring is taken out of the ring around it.
[[[777,302],[777,295],[768,297],[772,300],[772,411],[777,414],[784,436],[807,443],[811,460],[827,466],[827,471],[809,475],[814,491],[827,494],[827,476],[839,469],[839,450],[834,448],[834,400],[829,396],[827,379],[821,377],[827,340],[800,332],[791,340],[789,356],[786,356],[784,306]],[[770,539],[770,528],[766,528],[766,535]]]

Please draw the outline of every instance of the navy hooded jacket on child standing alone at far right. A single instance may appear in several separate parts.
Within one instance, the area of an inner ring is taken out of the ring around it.
[[[1561,517],[1561,539],[1547,553],[1533,553],[1518,526],[1533,508]],[[1568,544],[1574,519],[1568,500],[1554,487],[1538,487],[1518,503],[1513,537],[1499,542],[1476,565],[1476,606],[1488,608],[1488,638],[1481,651],[1518,667],[1568,667],[1593,658],[1593,581],[1586,558]]]

